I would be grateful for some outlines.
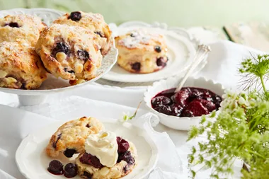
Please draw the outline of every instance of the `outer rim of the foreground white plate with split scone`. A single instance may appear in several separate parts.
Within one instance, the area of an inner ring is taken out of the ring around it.
[[[103,120],[106,120],[105,122],[108,122],[108,120],[110,122],[113,123],[118,123],[120,122],[120,120],[116,120],[113,118],[100,118],[101,122]],[[46,125],[45,127],[42,127],[40,129],[35,130],[34,132],[31,132],[30,134],[28,134],[26,137],[24,137],[21,141],[21,143],[19,144],[18,148],[16,149],[16,154],[15,154],[15,162],[16,162],[16,166],[18,167],[18,171],[20,171],[20,173],[27,179],[35,179],[35,178],[30,178],[30,175],[28,173],[26,173],[26,166],[23,165],[22,161],[22,152],[25,150],[25,146],[27,146],[28,142],[31,142],[34,138],[35,138],[35,134],[38,134],[39,132],[42,132],[43,130],[47,129],[48,127],[51,126],[60,126],[63,125],[65,122],[68,122],[70,120],[58,120],[55,122],[50,123],[49,125]],[[154,168],[156,167],[156,164],[159,160],[159,150],[158,147],[156,146],[156,143],[154,142],[154,139],[152,139],[148,132],[146,131],[146,129],[137,127],[135,125],[133,125],[130,122],[127,122],[128,125],[132,126],[132,127],[136,127],[137,129],[139,129],[140,131],[142,131],[142,137],[144,138],[144,140],[147,142],[147,144],[149,144],[150,148],[151,148],[151,157],[150,157],[150,161],[149,161],[149,168],[147,168],[144,174],[142,174],[139,178],[135,177],[135,179],[143,179],[144,177],[146,177],[147,175],[149,175],[149,173],[151,173],[151,171],[154,170]],[[24,171],[25,170],[25,171]]]

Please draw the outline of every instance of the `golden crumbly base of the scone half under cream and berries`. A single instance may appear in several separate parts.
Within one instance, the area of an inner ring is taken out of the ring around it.
[[[127,163],[126,161],[120,161],[119,163],[116,163],[115,166],[108,168],[104,166],[103,168],[94,168],[93,166],[81,163],[79,161],[79,158],[83,155],[80,154],[76,158],[76,164],[79,168],[79,175],[82,178],[86,178],[86,175],[84,175],[84,172],[89,173],[91,175],[91,179],[115,179],[115,178],[121,178],[130,172],[137,166],[137,149],[135,148],[135,145],[132,144],[132,142],[129,142],[130,148],[128,151],[130,151],[132,157],[135,159],[135,163]]]

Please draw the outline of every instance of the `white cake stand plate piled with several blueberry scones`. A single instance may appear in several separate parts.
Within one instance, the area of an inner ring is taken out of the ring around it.
[[[56,18],[59,18],[64,14],[64,12],[57,11],[50,8],[14,8],[11,10],[4,10],[0,11],[0,18],[3,18],[6,15],[13,15],[13,14],[30,14],[33,16],[38,16],[42,18],[42,20],[47,24],[50,25],[52,21]],[[57,93],[66,90],[70,90],[73,88],[77,88],[79,86],[85,86],[88,83],[92,83],[97,79],[100,79],[101,76],[106,74],[110,69],[113,67],[115,62],[117,62],[118,57],[118,50],[115,48],[115,44],[111,48],[110,52],[105,55],[102,61],[102,66],[96,71],[96,78],[91,79],[85,83],[81,83],[79,85],[70,86],[68,80],[64,79],[57,79],[52,75],[49,75],[47,80],[42,83],[42,86],[37,90],[21,90],[21,89],[9,89],[9,88],[0,88],[0,91],[6,93],[14,93],[23,96],[44,96],[48,93]]]

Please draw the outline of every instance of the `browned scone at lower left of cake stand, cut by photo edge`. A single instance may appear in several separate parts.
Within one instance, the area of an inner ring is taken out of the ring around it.
[[[0,87],[35,89],[47,79],[33,47],[18,42],[0,42]]]

